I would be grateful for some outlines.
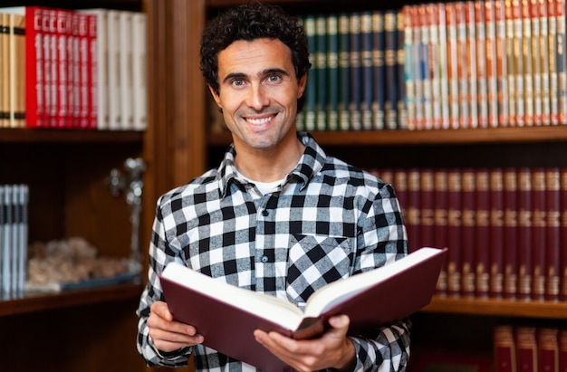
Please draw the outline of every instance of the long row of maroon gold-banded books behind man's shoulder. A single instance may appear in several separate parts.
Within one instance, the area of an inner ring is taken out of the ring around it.
[[[567,168],[370,171],[395,187],[410,251],[448,248],[439,295],[567,300]]]

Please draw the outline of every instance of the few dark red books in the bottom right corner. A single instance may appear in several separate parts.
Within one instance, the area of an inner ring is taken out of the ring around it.
[[[560,372],[567,369],[567,329],[498,324],[495,372]]]

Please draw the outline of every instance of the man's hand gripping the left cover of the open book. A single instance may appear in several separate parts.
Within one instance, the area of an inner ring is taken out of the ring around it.
[[[154,302],[149,310],[149,337],[159,350],[170,352],[203,342],[195,327],[173,320],[166,302]]]

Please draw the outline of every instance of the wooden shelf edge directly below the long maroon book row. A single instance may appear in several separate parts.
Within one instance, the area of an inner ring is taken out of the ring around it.
[[[422,311],[539,319],[567,319],[567,302],[482,300],[436,296]]]

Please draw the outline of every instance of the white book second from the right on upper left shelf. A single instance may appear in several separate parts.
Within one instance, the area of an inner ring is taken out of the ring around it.
[[[120,129],[130,130],[134,127],[132,100],[132,13],[120,11]]]

